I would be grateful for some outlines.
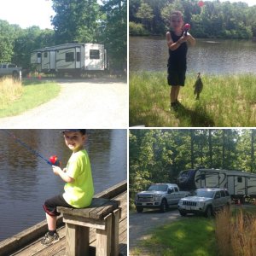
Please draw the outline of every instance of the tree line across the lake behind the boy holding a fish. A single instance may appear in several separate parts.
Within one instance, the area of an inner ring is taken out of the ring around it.
[[[131,35],[161,35],[169,28],[173,10],[183,13],[196,38],[252,38],[256,36],[256,5],[229,1],[130,0]]]

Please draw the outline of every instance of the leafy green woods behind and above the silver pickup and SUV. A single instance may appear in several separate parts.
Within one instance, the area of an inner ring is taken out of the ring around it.
[[[255,130],[130,130],[131,191],[198,166],[256,172]]]

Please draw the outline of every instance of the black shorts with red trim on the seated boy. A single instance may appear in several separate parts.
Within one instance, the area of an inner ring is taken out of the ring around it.
[[[44,212],[50,216],[59,216],[61,213],[57,212],[57,207],[74,208],[65,201],[63,195],[54,196],[44,202]]]

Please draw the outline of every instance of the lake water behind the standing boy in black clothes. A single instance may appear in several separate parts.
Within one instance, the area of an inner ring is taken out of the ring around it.
[[[166,38],[130,37],[130,72],[165,71]],[[256,43],[251,40],[196,39],[189,47],[188,73],[256,73]]]

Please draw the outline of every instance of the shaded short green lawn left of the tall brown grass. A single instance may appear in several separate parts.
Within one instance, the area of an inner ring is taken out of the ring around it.
[[[207,218],[183,218],[152,231],[140,241],[133,253],[163,256],[216,256],[214,221]]]

